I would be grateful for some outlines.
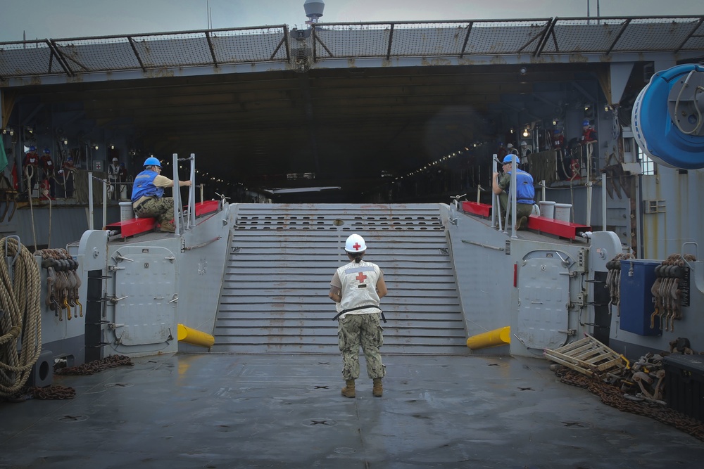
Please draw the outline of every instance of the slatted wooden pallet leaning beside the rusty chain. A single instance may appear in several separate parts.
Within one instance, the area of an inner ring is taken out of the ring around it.
[[[619,354],[589,334],[582,340],[554,350],[546,349],[543,353],[552,361],[596,378],[625,366]]]

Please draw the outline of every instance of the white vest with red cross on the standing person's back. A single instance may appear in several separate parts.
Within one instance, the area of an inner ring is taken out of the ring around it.
[[[360,261],[350,262],[337,269],[337,275],[342,283],[342,301],[335,304],[337,312],[346,309],[353,309],[363,306],[378,307],[379,294],[377,293],[377,281],[381,276],[381,270],[377,264]],[[346,314],[369,314],[377,313],[379,309],[357,309]]]

